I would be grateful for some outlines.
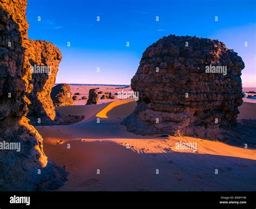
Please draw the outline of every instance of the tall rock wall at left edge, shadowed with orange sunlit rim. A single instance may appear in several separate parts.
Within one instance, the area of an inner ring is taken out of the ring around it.
[[[42,137],[25,117],[30,103],[26,94],[32,89],[24,50],[28,35],[25,9],[25,0],[0,0],[1,191],[55,189],[66,178],[65,171],[45,156]],[[10,143],[16,149],[10,150]]]

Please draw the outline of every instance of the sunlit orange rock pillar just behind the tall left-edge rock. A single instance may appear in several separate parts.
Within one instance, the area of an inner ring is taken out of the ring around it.
[[[62,54],[58,48],[42,40],[24,40],[25,59],[31,65],[33,89],[28,98],[31,101],[28,118],[31,123],[55,120],[56,110],[51,99],[51,89],[55,83]]]

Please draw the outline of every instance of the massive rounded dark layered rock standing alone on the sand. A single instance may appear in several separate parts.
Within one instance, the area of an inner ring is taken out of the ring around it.
[[[218,40],[159,39],[143,53],[131,80],[138,106],[122,124],[136,134],[215,138],[237,123],[243,68],[237,53]]]

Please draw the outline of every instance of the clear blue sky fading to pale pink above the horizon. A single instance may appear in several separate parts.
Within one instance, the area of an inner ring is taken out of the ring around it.
[[[26,12],[29,38],[62,52],[56,83],[130,85],[146,47],[176,34],[223,41],[245,62],[242,86],[256,87],[254,0],[28,0]]]

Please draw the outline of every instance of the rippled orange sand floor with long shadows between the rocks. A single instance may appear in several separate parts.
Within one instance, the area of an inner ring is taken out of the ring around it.
[[[255,119],[255,105],[244,102],[240,119]],[[192,137],[134,135],[119,123],[135,107],[133,99],[58,107],[85,120],[36,127],[45,154],[69,172],[58,191],[256,190],[255,149]],[[197,151],[177,150],[180,141],[196,142]]]

